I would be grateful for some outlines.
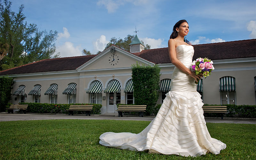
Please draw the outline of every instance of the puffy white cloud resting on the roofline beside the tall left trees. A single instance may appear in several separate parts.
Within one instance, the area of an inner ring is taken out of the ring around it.
[[[61,46],[56,47],[56,52],[60,52],[60,57],[73,57],[73,56],[82,56],[82,47],[74,46],[71,42],[65,42]]]

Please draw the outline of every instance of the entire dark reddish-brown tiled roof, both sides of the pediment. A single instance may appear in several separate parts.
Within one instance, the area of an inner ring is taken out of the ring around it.
[[[256,39],[198,44],[193,46],[195,50],[193,60],[198,57],[208,57],[211,60],[256,57]],[[171,63],[168,48],[143,50],[132,54],[156,64]],[[0,72],[0,75],[75,70],[95,56],[96,55],[89,55],[40,60],[20,67],[4,70]]]

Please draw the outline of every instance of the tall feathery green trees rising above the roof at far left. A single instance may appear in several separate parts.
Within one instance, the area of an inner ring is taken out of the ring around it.
[[[36,24],[27,24],[22,13],[24,5],[20,5],[17,13],[11,5],[10,1],[0,0],[0,69],[58,57],[58,53],[54,55],[57,31],[40,31]]]

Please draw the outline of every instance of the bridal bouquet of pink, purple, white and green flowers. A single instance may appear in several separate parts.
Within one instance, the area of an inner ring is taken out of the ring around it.
[[[207,76],[210,76],[212,73],[213,62],[209,60],[208,58],[197,58],[193,61],[192,66],[190,67],[191,71],[196,72],[196,75],[203,73],[203,76],[206,78]],[[195,84],[198,84],[199,79],[197,79],[197,82],[195,81]]]

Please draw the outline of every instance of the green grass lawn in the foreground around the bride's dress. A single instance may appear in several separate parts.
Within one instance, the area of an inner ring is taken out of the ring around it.
[[[256,125],[207,123],[213,138],[227,144],[219,155],[148,154],[99,144],[104,132],[141,132],[150,122],[121,120],[36,120],[0,122],[0,159],[256,159]]]

